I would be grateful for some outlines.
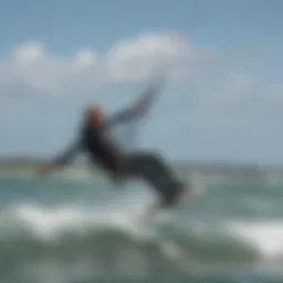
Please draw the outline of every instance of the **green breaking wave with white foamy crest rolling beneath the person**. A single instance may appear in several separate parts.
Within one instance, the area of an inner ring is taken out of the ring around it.
[[[168,271],[250,264],[262,256],[259,247],[235,237],[224,224],[191,222],[190,230],[176,229],[168,217],[155,223],[146,221],[143,212],[74,206],[7,208],[0,219],[0,266],[22,266],[44,259],[62,263],[87,259],[99,270]]]

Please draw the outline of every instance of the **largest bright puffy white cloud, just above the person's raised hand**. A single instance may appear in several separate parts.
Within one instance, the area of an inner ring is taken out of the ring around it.
[[[114,80],[137,80],[150,76],[158,64],[172,74],[191,55],[191,44],[184,36],[148,34],[115,44],[107,66]]]

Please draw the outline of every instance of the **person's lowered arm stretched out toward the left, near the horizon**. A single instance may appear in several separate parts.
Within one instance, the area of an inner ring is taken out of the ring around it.
[[[57,170],[67,164],[70,164],[73,158],[78,154],[82,149],[81,140],[72,144],[66,150],[64,150],[61,155],[55,157],[50,164],[42,165],[38,171],[40,175],[46,175],[51,171]]]

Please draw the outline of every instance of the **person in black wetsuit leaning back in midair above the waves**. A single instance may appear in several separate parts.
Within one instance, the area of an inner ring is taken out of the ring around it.
[[[113,127],[143,117],[157,91],[157,85],[150,86],[134,106],[109,118],[99,106],[87,107],[78,139],[51,164],[41,166],[39,172],[46,175],[57,170],[70,164],[77,153],[86,151],[91,164],[108,174],[114,182],[142,178],[159,193],[160,200],[156,207],[176,206],[188,188],[175,176],[161,156],[147,151],[126,154],[107,135]]]

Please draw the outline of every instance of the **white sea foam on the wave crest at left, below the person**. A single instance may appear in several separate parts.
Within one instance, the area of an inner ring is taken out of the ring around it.
[[[62,232],[72,230],[85,232],[97,227],[113,227],[144,237],[143,219],[148,210],[148,202],[124,199],[108,205],[85,207],[64,205],[46,208],[32,203],[18,203],[7,208],[13,219],[28,224],[40,238],[53,240]]]

